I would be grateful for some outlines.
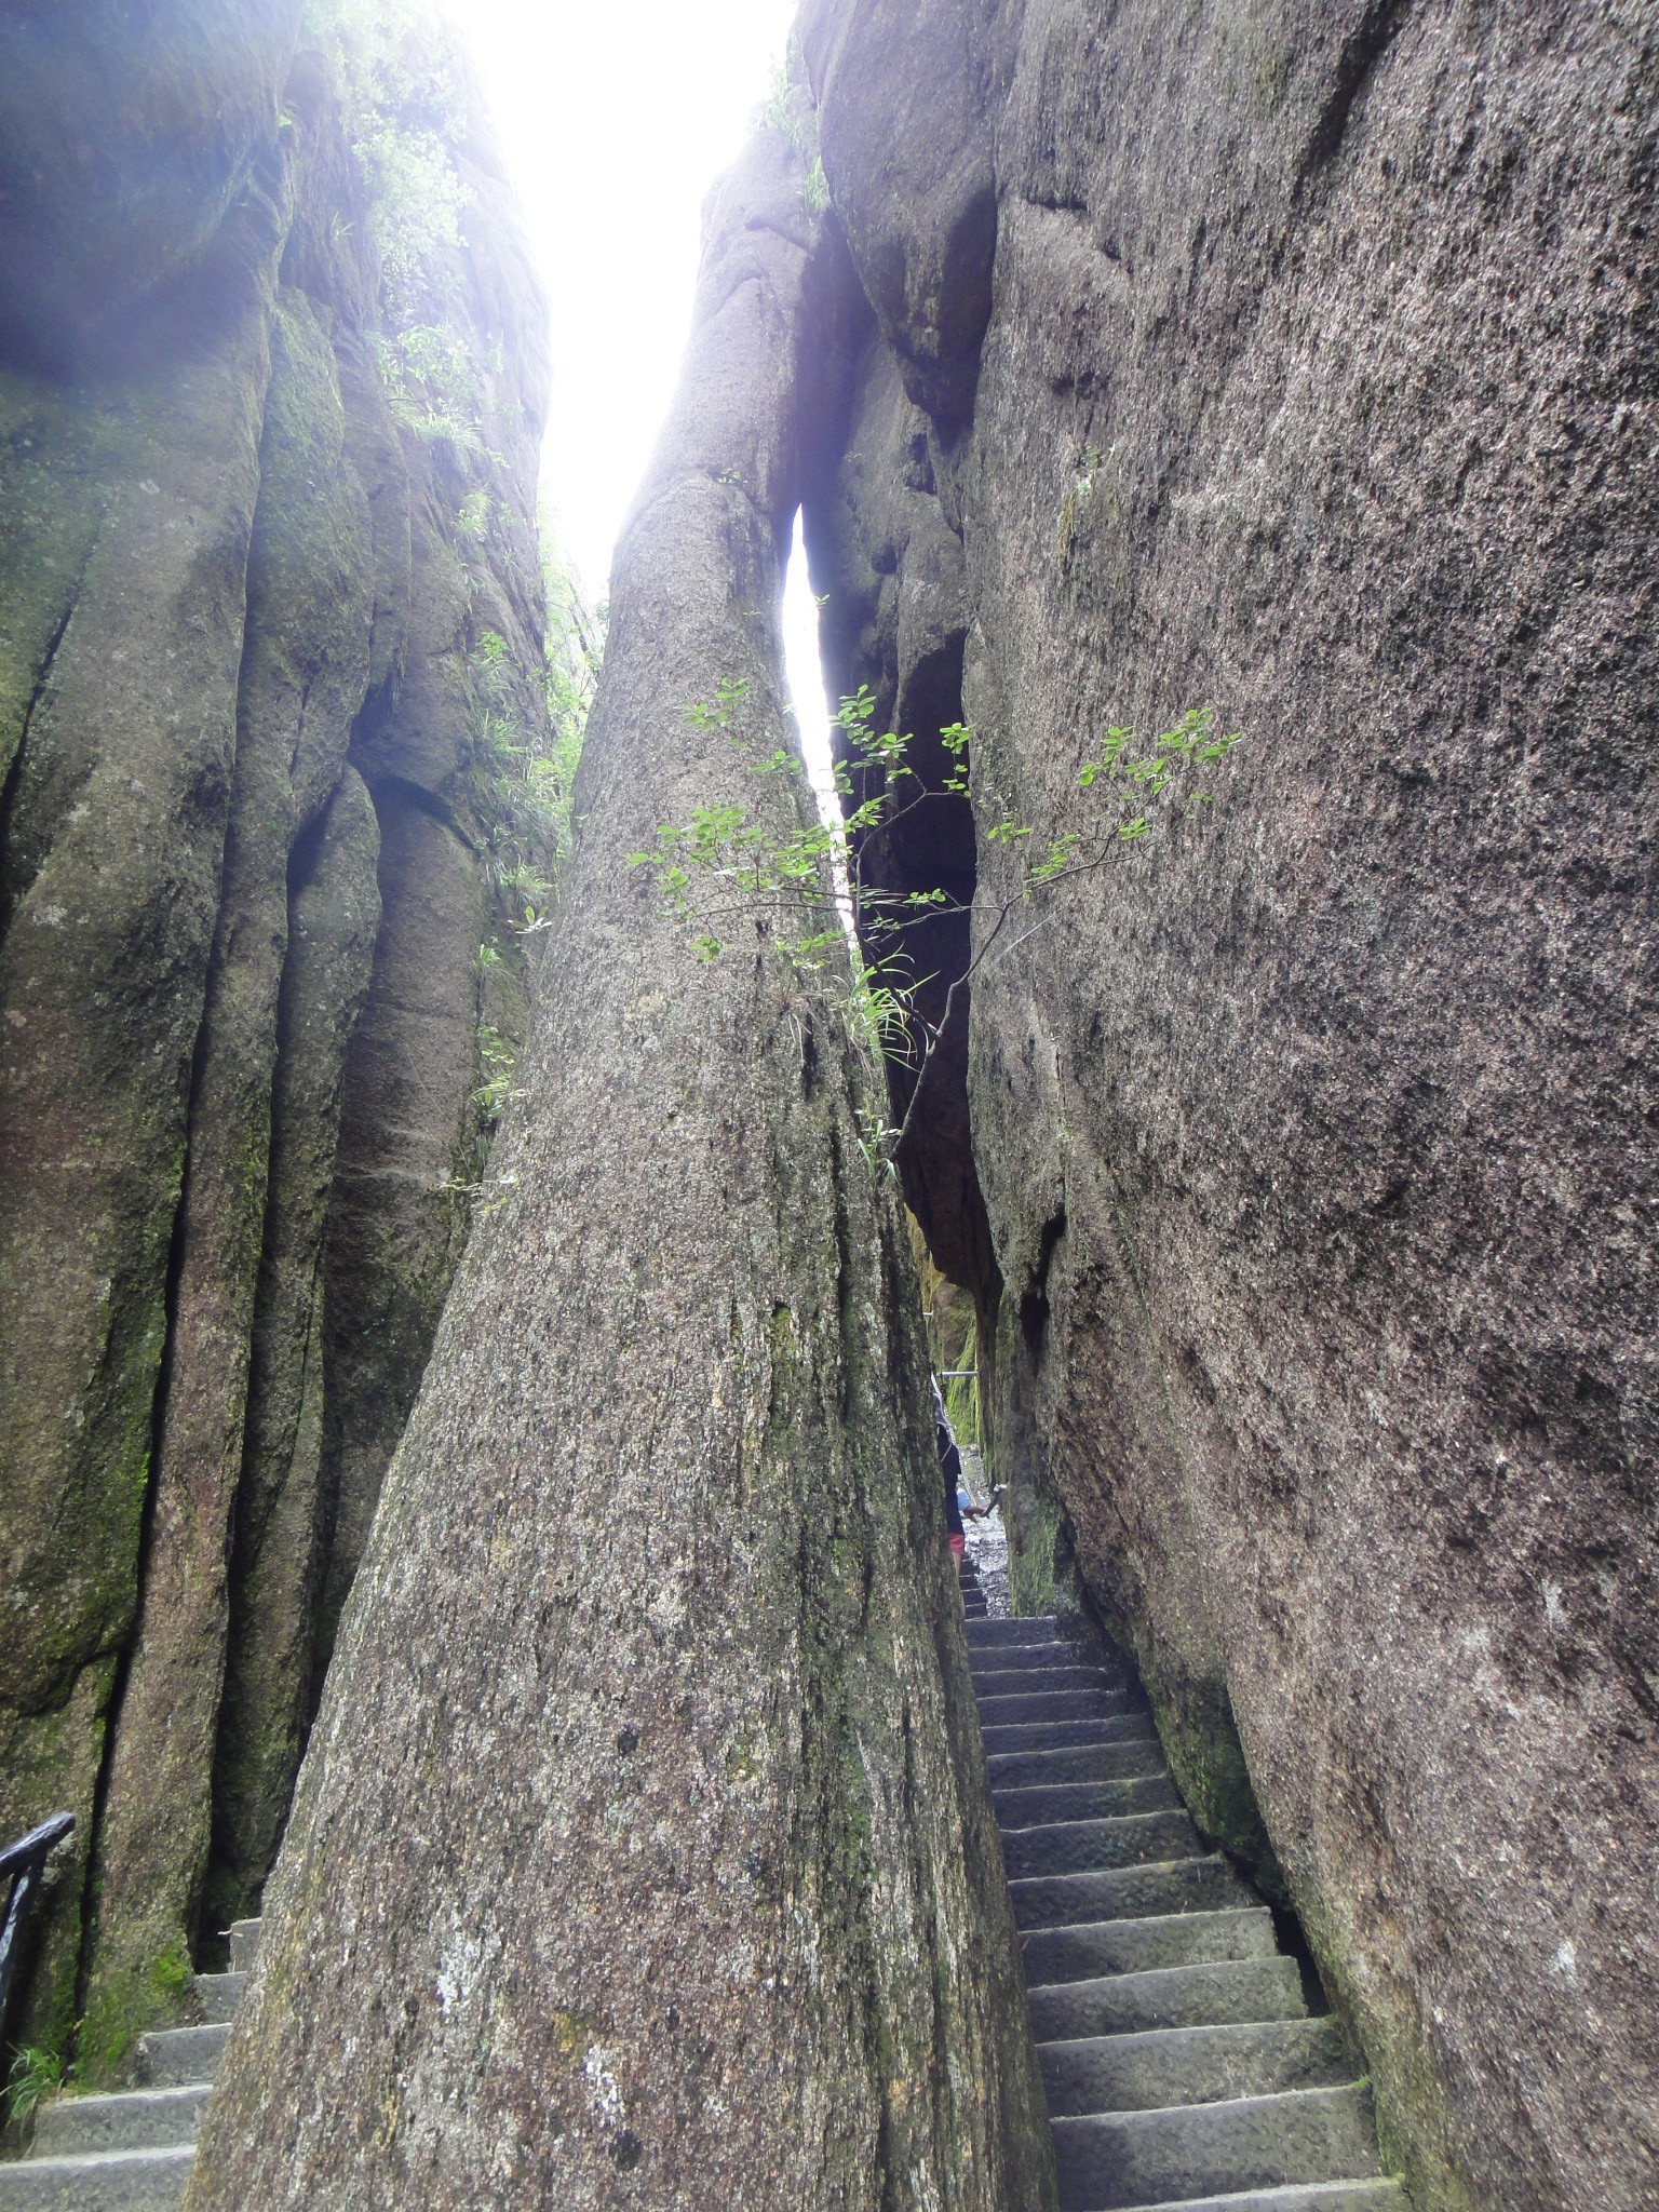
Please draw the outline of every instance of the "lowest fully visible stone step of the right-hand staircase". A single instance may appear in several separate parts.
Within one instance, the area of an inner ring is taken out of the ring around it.
[[[1358,2086],[1097,2112],[1051,2126],[1066,2212],[1380,2179],[1371,2097]]]

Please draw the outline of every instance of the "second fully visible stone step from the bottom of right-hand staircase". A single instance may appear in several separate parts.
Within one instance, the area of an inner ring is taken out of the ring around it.
[[[1276,2097],[1290,2088],[1338,2088],[1354,2079],[1334,2020],[1157,2028],[1040,2044],[1051,2117],[1157,2112],[1228,2097]]]

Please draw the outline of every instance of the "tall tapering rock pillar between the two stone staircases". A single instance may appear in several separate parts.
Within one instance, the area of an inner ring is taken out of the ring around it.
[[[533,1068],[347,1604],[192,2212],[1051,2201],[856,1062],[759,929],[699,962],[628,867],[697,803],[805,803],[748,772],[783,741],[781,549],[841,358],[801,184],[765,137],[710,208]],[[677,710],[730,679],[741,743],[692,734]]]

